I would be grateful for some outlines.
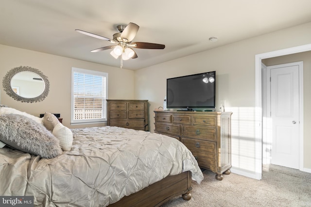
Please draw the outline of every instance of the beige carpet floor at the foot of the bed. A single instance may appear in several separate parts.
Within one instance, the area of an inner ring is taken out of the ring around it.
[[[222,181],[204,171],[200,185],[192,182],[192,198],[175,197],[161,207],[311,207],[311,174],[265,165],[262,180],[231,173]]]

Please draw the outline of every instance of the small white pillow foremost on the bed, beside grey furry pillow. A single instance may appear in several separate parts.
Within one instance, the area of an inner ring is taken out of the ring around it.
[[[64,151],[70,151],[73,141],[72,132],[69,128],[58,123],[53,129],[53,135],[59,140],[59,145]]]

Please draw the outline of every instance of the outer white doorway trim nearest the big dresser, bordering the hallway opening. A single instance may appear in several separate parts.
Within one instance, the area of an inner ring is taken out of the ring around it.
[[[280,49],[271,52],[265,52],[255,55],[255,135],[256,143],[255,149],[255,179],[261,179],[262,175],[262,73],[261,60],[266,58],[273,58],[283,55],[290,55],[299,52],[311,51],[311,44],[297,46],[293,48]],[[302,156],[303,157],[303,156]],[[304,166],[302,165],[301,168]],[[299,166],[300,168],[300,166]]]

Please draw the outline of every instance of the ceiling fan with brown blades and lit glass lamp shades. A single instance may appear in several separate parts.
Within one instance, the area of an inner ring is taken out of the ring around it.
[[[118,25],[117,30],[119,32],[115,33],[112,39],[103,37],[98,34],[85,32],[82,30],[75,30],[75,31],[115,44],[111,46],[93,49],[91,50],[91,52],[99,52],[99,51],[113,48],[110,54],[116,59],[119,56],[121,56],[121,68],[122,68],[123,60],[128,60],[130,58],[134,59],[138,57],[136,52],[133,50],[133,48],[140,48],[140,49],[164,49],[165,48],[165,45],[162,45],[162,44],[148,43],[148,42],[132,42],[132,40],[134,39],[134,37],[136,36],[138,32],[138,29],[139,29],[139,26],[132,22],[130,22],[128,25]]]

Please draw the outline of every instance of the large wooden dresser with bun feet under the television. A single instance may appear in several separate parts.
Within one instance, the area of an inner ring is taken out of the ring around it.
[[[231,112],[154,111],[155,133],[184,143],[200,167],[216,173],[217,180],[230,174]]]

